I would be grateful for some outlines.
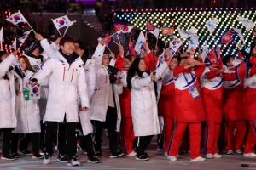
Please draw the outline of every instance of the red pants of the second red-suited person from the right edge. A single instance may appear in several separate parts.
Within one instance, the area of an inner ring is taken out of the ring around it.
[[[234,130],[236,129],[235,135]],[[247,131],[247,122],[242,120],[226,120],[227,150],[241,150],[244,144],[244,136]]]

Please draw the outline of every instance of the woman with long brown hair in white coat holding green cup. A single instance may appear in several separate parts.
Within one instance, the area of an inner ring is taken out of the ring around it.
[[[24,89],[29,88],[30,77],[34,74],[32,65],[25,56],[19,58],[19,63],[24,72],[20,72],[15,68],[15,115],[17,117],[17,127],[12,132],[12,156],[19,157],[17,153],[18,140],[20,134],[20,151],[22,154],[31,155],[27,150],[28,139],[32,139],[32,158],[42,159],[44,156],[39,154],[39,133],[41,132],[40,126],[40,111],[38,100],[26,100],[24,98]],[[30,135],[30,138],[26,135]]]

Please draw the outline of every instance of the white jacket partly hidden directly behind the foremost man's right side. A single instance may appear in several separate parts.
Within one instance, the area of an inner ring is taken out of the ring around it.
[[[96,87],[96,71],[94,59],[87,59],[84,65],[84,71],[86,76],[88,99],[91,103],[91,97]],[[90,123],[90,116],[90,111],[79,111],[80,123],[84,136],[93,132],[93,127]]]

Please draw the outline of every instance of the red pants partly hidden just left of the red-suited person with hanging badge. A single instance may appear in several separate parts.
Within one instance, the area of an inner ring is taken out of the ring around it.
[[[164,117],[164,122],[164,150],[167,152],[174,128],[174,120],[172,118]]]

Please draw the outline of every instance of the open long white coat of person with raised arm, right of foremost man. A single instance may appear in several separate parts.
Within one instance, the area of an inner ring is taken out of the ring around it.
[[[98,44],[95,53],[93,54],[91,59],[96,61],[96,89],[91,99],[90,112],[91,120],[106,121],[106,115],[108,110],[108,98],[109,95],[112,95],[112,92],[109,91],[109,76],[107,67],[102,65],[102,56],[104,52],[105,46],[102,44]],[[123,86],[121,84],[116,85],[113,84],[113,98],[115,99],[116,109],[117,109],[117,126],[116,131],[120,131],[120,122],[121,122],[121,112],[119,105],[119,94],[123,92]]]

